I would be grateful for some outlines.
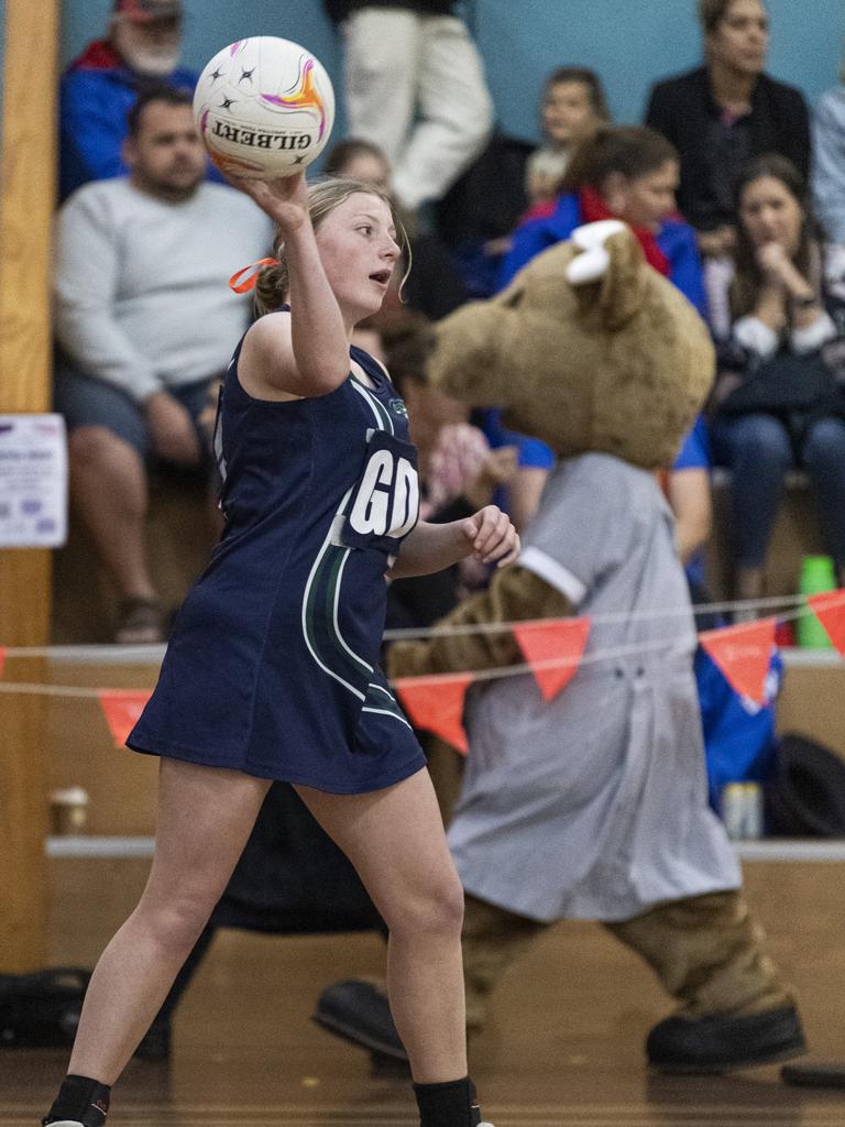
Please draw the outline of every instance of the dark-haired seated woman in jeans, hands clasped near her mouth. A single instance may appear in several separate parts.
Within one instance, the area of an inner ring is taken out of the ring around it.
[[[825,247],[808,190],[783,157],[737,187],[731,318],[717,325],[714,454],[731,470],[735,594],[763,594],[766,551],[792,467],[810,476],[827,551],[845,573],[845,252]]]

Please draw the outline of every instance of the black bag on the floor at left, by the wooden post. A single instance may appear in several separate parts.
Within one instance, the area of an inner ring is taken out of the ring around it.
[[[90,977],[81,967],[0,975],[0,1047],[72,1044]]]

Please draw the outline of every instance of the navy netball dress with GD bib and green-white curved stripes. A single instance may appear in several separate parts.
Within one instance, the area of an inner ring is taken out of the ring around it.
[[[225,531],[179,611],[139,752],[339,795],[425,757],[379,668],[385,571],[419,506],[404,403],[371,356],[327,396],[247,394],[234,353],[215,452]]]

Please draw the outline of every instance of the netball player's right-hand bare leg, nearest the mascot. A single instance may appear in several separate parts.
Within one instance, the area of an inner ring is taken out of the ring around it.
[[[390,929],[388,992],[413,1080],[465,1076],[463,889],[428,772],[367,795],[296,789]]]

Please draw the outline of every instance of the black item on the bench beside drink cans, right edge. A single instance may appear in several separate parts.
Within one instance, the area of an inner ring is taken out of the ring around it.
[[[765,787],[766,824],[781,837],[845,837],[845,761],[808,736],[779,742]]]

